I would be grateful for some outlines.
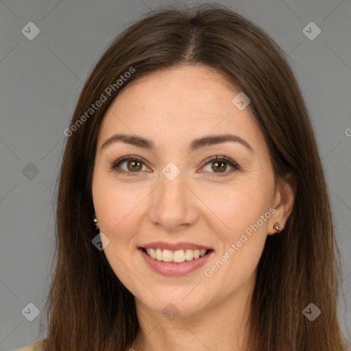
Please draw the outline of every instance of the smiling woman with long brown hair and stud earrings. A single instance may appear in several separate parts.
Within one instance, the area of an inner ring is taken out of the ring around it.
[[[64,133],[40,350],[346,350],[313,127],[256,25],[221,5],[148,14]]]

